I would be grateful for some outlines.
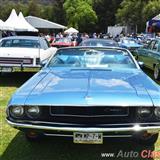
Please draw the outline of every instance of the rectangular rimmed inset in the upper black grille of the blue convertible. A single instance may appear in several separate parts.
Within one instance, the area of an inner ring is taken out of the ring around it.
[[[76,117],[98,117],[98,116],[128,116],[127,107],[72,107],[72,106],[52,106],[50,108],[53,116],[76,116]]]

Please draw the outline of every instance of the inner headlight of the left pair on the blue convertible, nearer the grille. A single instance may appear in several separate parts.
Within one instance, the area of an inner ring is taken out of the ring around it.
[[[40,114],[40,109],[38,106],[29,106],[27,107],[27,115],[31,118],[37,118]]]

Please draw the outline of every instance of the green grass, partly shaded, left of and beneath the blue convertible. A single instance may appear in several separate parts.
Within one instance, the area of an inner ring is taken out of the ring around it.
[[[31,76],[18,73],[0,77],[0,160],[112,160],[101,158],[101,153],[160,151],[160,139],[151,147],[140,146],[129,139],[107,139],[103,145],[75,145],[70,138],[45,138],[36,143],[26,141],[23,133],[6,123],[5,109],[11,95]]]

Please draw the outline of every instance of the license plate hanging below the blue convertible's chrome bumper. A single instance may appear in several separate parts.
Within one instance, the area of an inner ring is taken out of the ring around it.
[[[103,133],[80,133],[73,135],[74,143],[81,144],[103,144]]]

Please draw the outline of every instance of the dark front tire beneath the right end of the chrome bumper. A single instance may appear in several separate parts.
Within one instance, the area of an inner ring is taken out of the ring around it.
[[[140,134],[136,134],[134,136],[134,140],[136,140],[137,143],[141,144],[141,145],[147,145],[147,146],[153,146],[157,139],[158,139],[159,134],[158,133],[140,133]]]

